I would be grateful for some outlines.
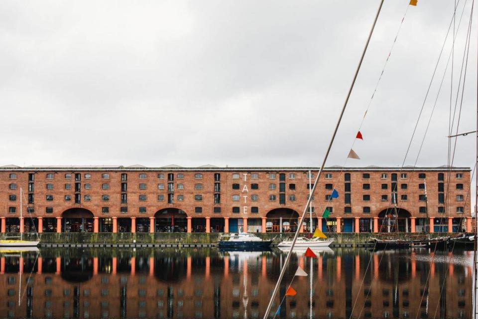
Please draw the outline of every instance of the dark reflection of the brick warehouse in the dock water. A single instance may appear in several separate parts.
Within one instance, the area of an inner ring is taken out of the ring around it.
[[[36,263],[29,257],[22,263],[17,256],[1,257],[0,317],[261,318],[281,267],[275,253],[121,255],[43,256]],[[471,267],[452,264],[447,270],[446,263],[424,257],[430,256],[375,253],[364,276],[366,251],[319,255],[312,265],[312,305],[310,277],[296,277],[297,295],[286,297],[280,317],[305,318],[312,310],[315,318],[412,318],[417,312],[433,318],[438,307],[437,314],[446,318],[470,318]],[[310,273],[307,257],[294,255],[291,264],[284,282],[290,282],[298,265]]]

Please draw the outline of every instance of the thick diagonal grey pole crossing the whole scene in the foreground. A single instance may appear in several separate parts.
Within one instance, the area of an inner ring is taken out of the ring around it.
[[[351,96],[351,94],[352,94],[352,90],[353,90],[354,85],[355,85],[355,82],[356,82],[356,80],[357,80],[357,76],[359,75],[360,66],[361,66],[361,64],[362,64],[363,57],[365,56],[365,52],[367,51],[367,47],[368,47],[368,43],[370,42],[370,38],[372,37],[373,29],[375,28],[375,24],[376,24],[376,22],[377,22],[378,15],[380,14],[380,10],[381,10],[382,5],[383,5],[383,1],[384,1],[384,0],[381,0],[381,1],[380,1],[380,5],[379,5],[379,7],[378,7],[377,13],[376,13],[375,18],[374,18],[374,20],[373,20],[373,24],[372,24],[372,27],[371,27],[370,32],[369,32],[369,34],[368,34],[365,47],[363,48],[362,54],[361,54],[361,56],[360,56],[359,65],[357,66],[357,70],[356,70],[356,72],[355,72],[354,78],[353,78],[353,80],[352,80],[352,84],[351,84],[351,86],[350,86],[349,92],[348,92],[347,97],[346,97],[346,100],[345,100],[345,102],[344,102],[344,106],[342,107],[342,111],[341,111],[341,113],[340,113],[339,120],[338,120],[338,122],[337,122],[337,124],[336,124],[334,133],[333,133],[333,135],[332,135],[332,139],[331,139],[331,141],[330,141],[330,143],[329,143],[329,147],[328,147],[327,152],[326,152],[326,154],[325,154],[325,157],[324,157],[324,160],[323,160],[322,165],[321,165],[321,167],[320,167],[320,170],[319,170],[319,172],[318,172],[318,174],[317,174],[317,177],[316,177],[316,179],[315,179],[315,181],[314,181],[314,186],[312,186],[312,193],[314,192],[315,188],[317,187],[317,182],[319,181],[319,177],[320,177],[320,175],[322,174],[322,171],[323,171],[323,169],[324,169],[324,166],[325,166],[325,163],[326,163],[326,161],[327,161],[327,158],[329,157],[329,153],[330,153],[330,150],[331,150],[331,148],[332,148],[332,144],[334,143],[335,136],[337,135],[337,131],[339,130],[340,122],[342,121],[342,117],[344,116],[345,109],[347,108],[347,104],[348,104],[349,99],[350,99],[350,96]],[[287,269],[287,265],[289,264],[290,256],[292,255],[292,250],[294,249],[295,242],[297,241],[297,237],[298,237],[298,235],[299,235],[300,227],[301,227],[302,223],[304,222],[304,218],[305,218],[306,212],[307,212],[307,210],[308,210],[308,208],[309,208],[309,206],[310,206],[311,200],[312,200],[312,196],[309,196],[309,199],[307,200],[307,203],[306,203],[306,205],[305,205],[305,207],[304,207],[304,211],[302,212],[302,216],[301,216],[301,218],[300,218],[299,224],[297,225],[297,231],[295,232],[294,239],[293,239],[293,241],[292,241],[292,245],[290,246],[289,253],[287,254],[287,257],[286,257],[285,262],[284,262],[284,266],[282,267],[282,270],[281,270],[281,272],[280,272],[279,278],[278,278],[277,283],[276,283],[276,285],[275,285],[274,291],[272,292],[272,296],[271,296],[271,298],[270,298],[269,304],[267,305],[267,309],[266,309],[265,314],[264,314],[264,319],[267,319],[267,317],[269,316],[269,312],[270,312],[270,309],[271,309],[271,307],[272,307],[272,301],[275,299],[275,297],[276,297],[276,295],[277,295],[277,291],[278,291],[278,289],[279,289],[279,285],[280,285],[280,283],[281,283],[281,281],[282,281],[282,278],[284,277],[284,273],[285,273],[285,271],[286,271],[286,269]]]

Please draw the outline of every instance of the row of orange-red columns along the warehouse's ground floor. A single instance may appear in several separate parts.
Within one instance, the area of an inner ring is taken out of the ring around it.
[[[187,218],[187,232],[191,233],[192,232],[192,217],[186,217]],[[354,217],[355,218],[355,229],[354,232],[359,233],[359,220],[360,217]],[[415,232],[415,225],[416,225],[416,220],[417,217],[410,217],[410,229],[412,233]],[[41,233],[43,232],[43,217],[37,217],[38,219],[38,232]],[[136,232],[136,217],[130,217],[131,219],[131,232],[135,233]],[[262,219],[262,233],[265,233],[266,230],[266,217],[261,217]],[[435,217],[429,217],[429,225],[430,229],[429,232],[433,233],[434,232],[434,219]],[[62,217],[56,217],[56,232],[61,233],[61,220]],[[112,217],[113,220],[113,232],[117,233],[118,232],[118,217]],[[336,227],[336,232],[340,233],[341,232],[341,221],[342,217],[337,217],[337,227]],[[242,218],[242,224],[243,224],[243,230],[247,230],[247,217]],[[318,225],[322,225],[322,217],[318,218]],[[20,218],[20,233],[24,232],[24,218]],[[448,217],[448,230],[452,230],[453,228],[453,217]],[[472,232],[472,217],[466,217],[466,228],[468,232]],[[155,217],[149,217],[149,232],[154,233],[155,229]],[[5,217],[0,217],[0,232],[5,233],[6,231],[6,220]],[[99,217],[93,217],[93,232],[98,233],[99,232]],[[206,217],[206,233],[211,232],[211,217]],[[229,233],[229,217],[224,217],[224,232]],[[304,232],[304,224],[301,226],[301,232]],[[378,233],[378,217],[373,217],[373,232]]]

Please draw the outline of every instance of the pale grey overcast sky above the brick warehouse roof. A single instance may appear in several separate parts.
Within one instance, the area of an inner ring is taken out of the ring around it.
[[[457,31],[453,101],[471,2]],[[0,164],[320,166],[378,3],[2,1]],[[401,165],[453,3],[408,9],[354,146],[361,160],[345,162],[408,5],[385,1],[328,165]],[[476,127],[476,11],[459,131]],[[447,163],[450,70],[420,166]],[[473,167],[475,143],[460,138],[455,165]]]

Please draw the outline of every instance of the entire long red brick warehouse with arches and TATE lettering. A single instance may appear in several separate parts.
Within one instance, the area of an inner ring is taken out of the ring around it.
[[[313,182],[317,167],[0,166],[1,232],[295,231],[309,170]],[[328,167],[312,229],[471,231],[470,182],[469,167]]]

